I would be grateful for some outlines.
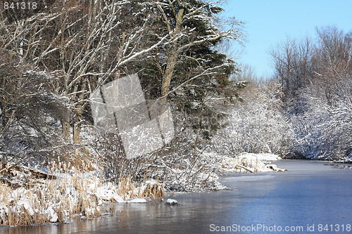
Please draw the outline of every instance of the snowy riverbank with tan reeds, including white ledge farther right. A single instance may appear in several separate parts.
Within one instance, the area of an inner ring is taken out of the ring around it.
[[[278,155],[250,153],[234,158],[222,157],[216,172],[282,172],[284,169],[271,164],[280,159]],[[13,177],[8,183],[0,184],[0,224],[23,226],[64,223],[70,216],[89,218],[111,212],[113,208],[106,206],[110,202],[167,202],[163,200],[165,195],[170,197],[177,192],[165,190],[168,181],[146,180],[137,184],[126,177],[120,178],[118,184],[106,182],[99,170],[92,168],[90,171],[80,171],[70,165],[58,167],[53,163],[46,171],[37,168],[9,169]],[[211,181],[214,190],[226,189],[218,182],[216,172],[204,174],[204,181]],[[34,178],[34,175],[42,175],[42,178]],[[177,201],[169,203],[176,204]]]

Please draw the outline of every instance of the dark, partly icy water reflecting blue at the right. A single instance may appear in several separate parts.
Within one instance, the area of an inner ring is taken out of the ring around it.
[[[0,233],[352,233],[352,169],[275,164],[289,171],[225,178],[234,190],[177,194],[177,206],[117,204],[113,216]]]

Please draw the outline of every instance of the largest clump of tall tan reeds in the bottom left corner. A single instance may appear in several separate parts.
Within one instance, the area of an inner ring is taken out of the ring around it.
[[[45,180],[28,189],[0,183],[0,224],[23,226],[64,222],[73,214],[99,215],[96,195],[87,191],[88,181],[78,174],[67,177]]]

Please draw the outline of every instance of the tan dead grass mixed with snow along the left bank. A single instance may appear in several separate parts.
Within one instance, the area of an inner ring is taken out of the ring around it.
[[[104,198],[98,197],[97,190],[104,188],[119,195],[122,200],[134,197],[163,198],[164,185],[156,181],[146,181],[136,188],[132,176],[121,176],[118,184],[105,183],[93,171],[96,165],[82,160],[82,155],[58,157],[52,162],[42,162],[49,174],[38,169],[9,169],[1,164],[7,175],[17,178],[25,175],[27,183],[11,187],[11,183],[0,182],[0,225],[27,226],[44,223],[64,222],[68,216],[94,217],[101,214],[99,204]],[[70,160],[70,161],[68,161]],[[15,170],[15,171],[14,171]],[[17,170],[17,171],[16,171]],[[16,177],[17,176],[17,177]],[[118,202],[115,198],[104,200]],[[108,211],[113,212],[113,209]]]

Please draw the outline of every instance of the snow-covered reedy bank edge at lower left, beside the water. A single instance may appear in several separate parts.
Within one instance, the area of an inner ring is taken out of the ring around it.
[[[164,194],[163,184],[158,181],[146,181],[137,187],[129,178],[121,178],[115,185],[103,182],[97,171],[74,171],[56,177],[20,188],[0,183],[0,225],[65,222],[72,215],[93,217],[104,212],[107,202],[147,202],[144,195]]]

